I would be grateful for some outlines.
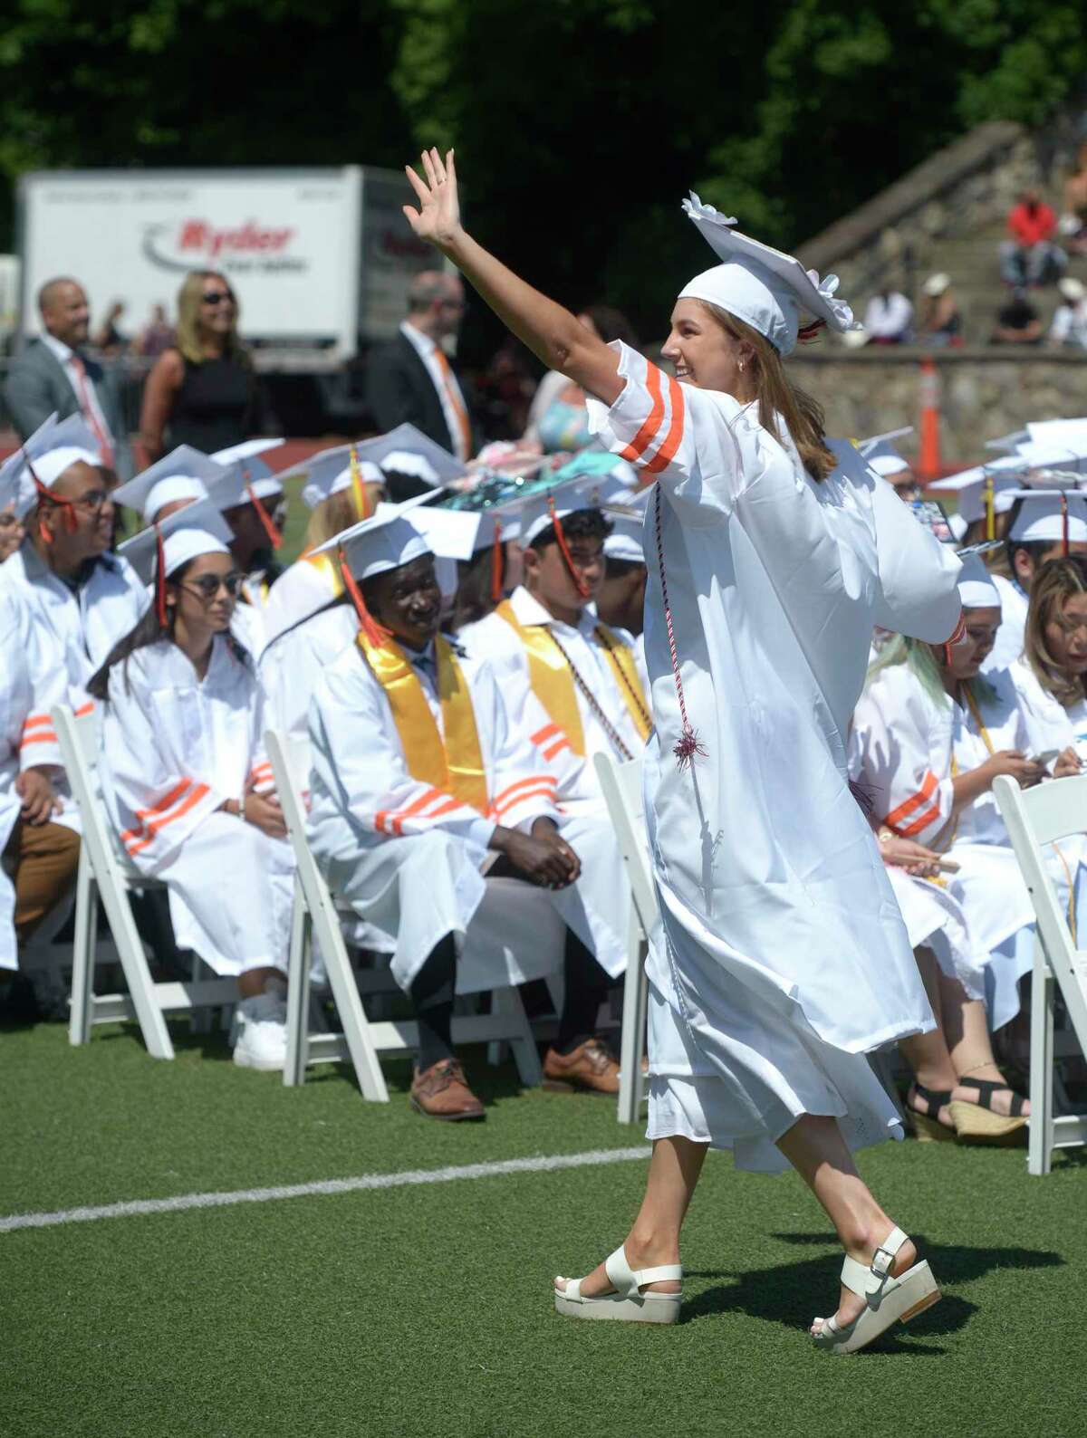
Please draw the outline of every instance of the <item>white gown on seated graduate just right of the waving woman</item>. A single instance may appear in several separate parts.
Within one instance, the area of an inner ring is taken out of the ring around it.
[[[983,676],[994,697],[979,706],[994,751],[1031,748],[1024,713],[1006,670]],[[939,703],[909,664],[880,670],[857,705],[861,782],[876,814],[897,833],[946,851],[959,864],[945,876],[962,906],[985,965],[989,1025],[1001,1028],[1019,1009],[1018,981],[1032,962],[1034,907],[992,792],[982,794],[952,823],[952,756],[958,774],[985,764],[989,749],[968,707]],[[1081,846],[1060,846],[1075,881]],[[1068,880],[1057,853],[1050,873],[1061,903]]]

